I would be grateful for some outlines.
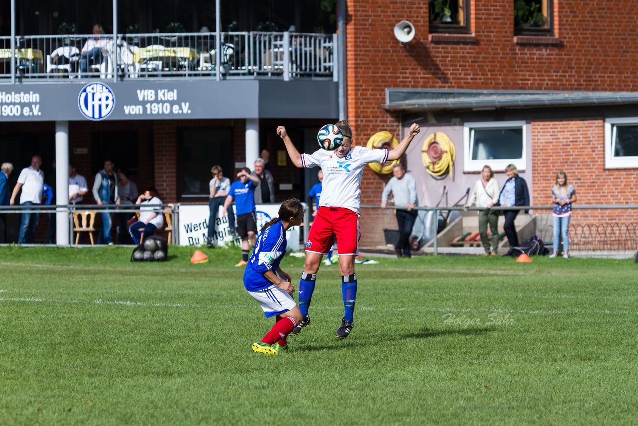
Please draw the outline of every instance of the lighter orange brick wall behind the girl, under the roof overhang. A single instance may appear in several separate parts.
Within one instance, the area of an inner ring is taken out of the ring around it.
[[[576,204],[636,204],[638,169],[605,169],[604,120],[536,121],[531,125],[532,204],[551,204],[556,172],[567,173]],[[636,223],[632,209],[576,210],[572,224]]]

